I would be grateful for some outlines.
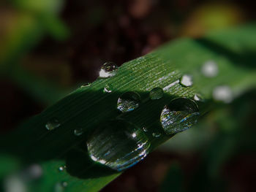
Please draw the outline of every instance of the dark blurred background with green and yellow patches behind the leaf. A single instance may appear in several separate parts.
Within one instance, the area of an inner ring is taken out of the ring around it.
[[[0,2],[1,133],[179,37],[255,21],[255,1]],[[255,37],[256,38],[256,37]],[[254,191],[254,90],[177,134],[102,191]]]

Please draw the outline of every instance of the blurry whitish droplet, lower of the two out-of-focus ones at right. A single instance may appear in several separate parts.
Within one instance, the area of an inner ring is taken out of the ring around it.
[[[216,101],[223,101],[225,103],[230,103],[233,101],[233,94],[230,87],[226,85],[218,86],[214,88],[213,97]]]

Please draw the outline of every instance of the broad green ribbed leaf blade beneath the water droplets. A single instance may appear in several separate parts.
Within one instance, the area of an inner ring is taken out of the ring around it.
[[[1,150],[11,153],[23,164],[37,162],[42,165],[43,175],[32,185],[32,191],[53,191],[61,182],[67,182],[65,191],[99,191],[121,172],[91,161],[86,151],[86,139],[91,131],[105,120],[123,118],[140,128],[148,128],[146,134],[154,150],[170,139],[162,130],[159,116],[171,99],[192,99],[195,93],[201,93],[205,101],[198,102],[198,105],[203,118],[206,112],[219,107],[212,100],[212,91],[217,85],[229,86],[234,98],[255,88],[253,62],[256,54],[252,54],[256,50],[255,32],[256,26],[244,26],[215,32],[203,39],[178,39],[129,61],[118,69],[115,76],[78,88],[1,138]],[[200,71],[209,60],[219,66],[217,77],[204,77]],[[179,84],[183,74],[192,75],[191,87]],[[111,93],[103,92],[106,85],[112,88]],[[156,87],[164,89],[164,96],[148,99],[149,91]],[[127,91],[139,93],[142,102],[133,112],[121,114],[116,110],[116,102]],[[48,131],[45,124],[53,118],[61,125]],[[80,137],[75,136],[75,128],[83,128]],[[162,135],[152,137],[154,131]],[[1,164],[5,162],[1,161]],[[59,172],[59,166],[64,164],[67,170]]]

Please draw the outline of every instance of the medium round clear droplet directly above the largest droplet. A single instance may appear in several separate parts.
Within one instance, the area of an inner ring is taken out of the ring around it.
[[[140,95],[129,91],[122,94],[117,101],[117,109],[121,112],[130,112],[140,105]]]

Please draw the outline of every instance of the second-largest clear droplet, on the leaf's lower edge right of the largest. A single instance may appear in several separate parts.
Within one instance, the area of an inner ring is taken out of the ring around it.
[[[195,101],[178,98],[173,99],[164,107],[160,121],[166,134],[176,134],[197,123],[198,116],[199,110]]]

